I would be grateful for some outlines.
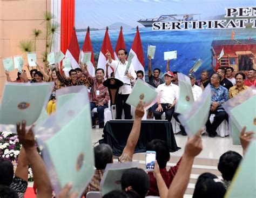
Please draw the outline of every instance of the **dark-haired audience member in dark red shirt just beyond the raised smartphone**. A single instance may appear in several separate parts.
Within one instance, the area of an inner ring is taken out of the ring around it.
[[[166,165],[167,165],[167,162],[170,160],[170,151],[166,141],[154,139],[147,144],[146,150],[156,151],[156,160],[160,168],[161,176],[163,177],[166,186],[170,186],[173,180],[173,177],[178,171],[181,158],[178,161],[176,166],[173,166],[169,170],[167,170]],[[148,195],[159,196],[157,180],[154,177],[153,172],[148,172],[147,175],[149,175],[149,179],[150,179],[150,188],[149,188]]]

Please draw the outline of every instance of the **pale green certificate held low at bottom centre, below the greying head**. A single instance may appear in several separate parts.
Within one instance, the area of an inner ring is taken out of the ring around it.
[[[123,173],[127,169],[138,167],[138,165],[138,162],[108,163],[99,186],[102,195],[104,196],[112,190],[122,190],[120,181]]]

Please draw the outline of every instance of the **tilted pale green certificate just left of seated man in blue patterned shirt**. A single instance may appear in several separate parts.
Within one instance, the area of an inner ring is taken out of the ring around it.
[[[200,97],[193,103],[190,111],[178,116],[188,136],[195,135],[205,126],[211,106],[211,88],[208,85]]]

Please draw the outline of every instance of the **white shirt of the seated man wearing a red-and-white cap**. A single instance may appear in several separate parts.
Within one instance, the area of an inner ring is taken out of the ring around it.
[[[179,87],[174,84],[167,86],[165,83],[158,85],[157,90],[161,92],[161,104],[173,104],[174,99],[178,98]]]

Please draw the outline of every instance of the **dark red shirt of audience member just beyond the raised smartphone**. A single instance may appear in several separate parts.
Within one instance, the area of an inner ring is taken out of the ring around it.
[[[172,180],[178,171],[178,168],[179,168],[179,165],[181,162],[181,158],[179,159],[177,165],[171,167],[169,171],[167,171],[166,168],[160,169],[161,176],[163,177],[167,188],[170,187]],[[156,177],[154,177],[153,172],[149,172],[149,173],[147,173],[147,175],[149,175],[149,179],[150,179],[150,189],[149,189],[149,193],[147,195],[148,196],[159,196]]]

